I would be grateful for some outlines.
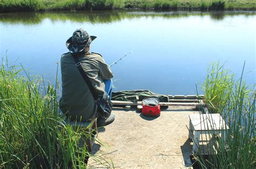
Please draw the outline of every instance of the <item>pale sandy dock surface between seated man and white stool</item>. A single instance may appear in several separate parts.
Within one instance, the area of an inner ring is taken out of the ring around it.
[[[186,168],[191,166],[188,115],[193,107],[169,107],[160,117],[114,109],[115,121],[99,129],[87,168]],[[187,125],[187,126],[186,126]]]

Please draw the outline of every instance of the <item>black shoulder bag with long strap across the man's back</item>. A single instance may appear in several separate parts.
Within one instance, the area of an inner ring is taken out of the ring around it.
[[[73,54],[72,54],[72,57],[74,58],[74,60],[76,62],[76,67],[78,68],[80,74],[82,75],[84,81],[86,82],[87,86],[89,87],[89,89],[95,99],[95,103],[97,105],[96,115],[98,117],[100,116],[103,118],[109,117],[111,114],[111,111],[112,111],[112,107],[113,107],[113,103],[109,100],[109,96],[104,91],[104,95],[102,97],[99,97],[99,98],[97,97],[97,95],[95,93],[95,89],[92,87],[90,79],[88,78],[88,76],[86,75],[86,73],[84,72],[84,70],[81,66],[81,62]]]

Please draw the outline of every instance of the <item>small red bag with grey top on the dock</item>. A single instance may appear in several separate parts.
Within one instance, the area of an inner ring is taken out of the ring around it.
[[[149,117],[160,116],[159,99],[156,96],[146,97],[142,100],[142,114]]]

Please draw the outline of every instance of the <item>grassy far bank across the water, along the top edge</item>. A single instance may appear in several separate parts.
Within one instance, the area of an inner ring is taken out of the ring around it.
[[[0,12],[38,10],[256,10],[254,0],[2,0]]]

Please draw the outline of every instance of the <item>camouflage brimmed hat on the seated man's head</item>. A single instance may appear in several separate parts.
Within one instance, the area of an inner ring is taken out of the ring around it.
[[[92,40],[95,40],[95,36],[89,36],[89,34],[83,29],[77,29],[73,36],[66,41],[66,47],[72,53],[79,53],[83,51],[85,47],[91,44]]]

